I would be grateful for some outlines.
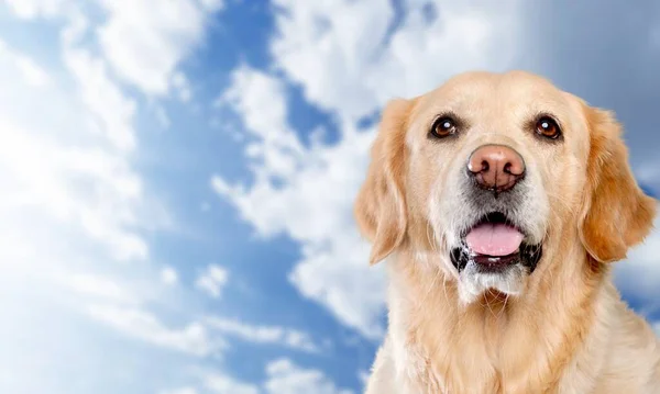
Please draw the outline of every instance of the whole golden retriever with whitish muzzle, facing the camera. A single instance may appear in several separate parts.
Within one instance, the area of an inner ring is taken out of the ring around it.
[[[468,72],[391,101],[354,215],[387,258],[369,394],[660,393],[612,263],[652,228],[622,126],[549,80]]]

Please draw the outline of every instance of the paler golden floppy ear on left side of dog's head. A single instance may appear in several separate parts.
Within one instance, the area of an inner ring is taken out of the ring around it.
[[[411,108],[413,101],[403,99],[385,106],[366,179],[353,206],[360,230],[373,244],[371,264],[389,256],[406,234],[405,139]]]

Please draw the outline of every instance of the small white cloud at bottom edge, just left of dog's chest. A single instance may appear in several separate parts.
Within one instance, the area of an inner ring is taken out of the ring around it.
[[[288,359],[279,359],[266,367],[268,380],[264,389],[268,394],[350,394],[338,389],[321,371],[302,369]]]

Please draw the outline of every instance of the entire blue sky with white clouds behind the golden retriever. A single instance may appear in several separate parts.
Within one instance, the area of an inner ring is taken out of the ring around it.
[[[614,110],[660,190],[652,1],[155,7],[0,2],[2,393],[360,393],[385,328],[351,216],[375,121],[455,72]],[[616,271],[652,322],[659,254],[657,232]]]

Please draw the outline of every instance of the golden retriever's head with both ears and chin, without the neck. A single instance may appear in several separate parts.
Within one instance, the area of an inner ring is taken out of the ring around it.
[[[372,263],[431,251],[469,302],[519,292],[562,237],[596,263],[625,258],[656,201],[612,114],[530,74],[470,72],[387,104],[354,213]]]

